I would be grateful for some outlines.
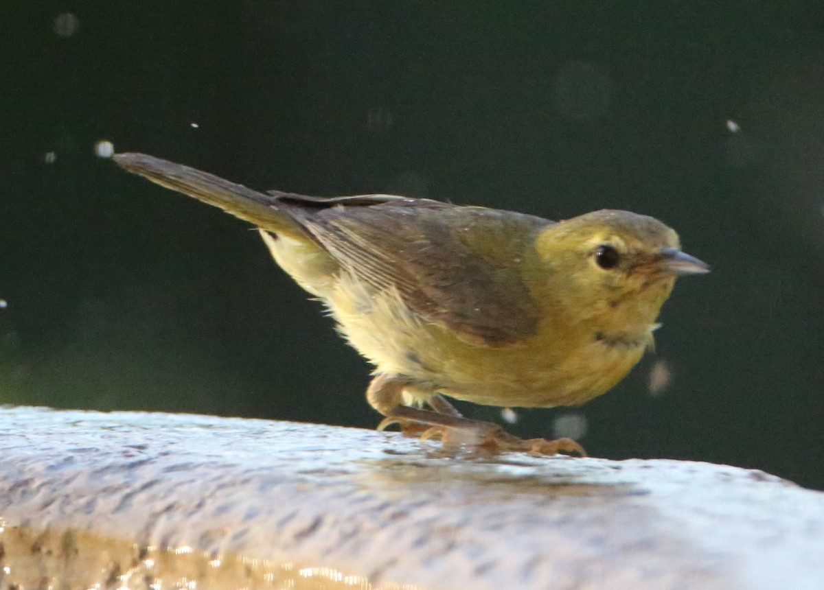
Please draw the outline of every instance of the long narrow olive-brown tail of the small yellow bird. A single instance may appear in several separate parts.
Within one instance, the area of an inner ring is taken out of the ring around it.
[[[285,234],[298,239],[306,239],[306,231],[283,207],[279,207],[274,197],[258,193],[242,184],[235,184],[189,166],[175,164],[146,154],[124,153],[114,157],[124,170],[139,174],[143,178],[163,187],[171,188],[231,213],[258,227]]]

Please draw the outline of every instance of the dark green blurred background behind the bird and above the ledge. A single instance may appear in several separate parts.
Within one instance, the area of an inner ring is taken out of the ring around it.
[[[29,2],[0,92],[0,402],[373,427],[368,365],[248,225],[117,169],[656,216],[713,266],[581,408],[608,458],[824,488],[820,2]]]

